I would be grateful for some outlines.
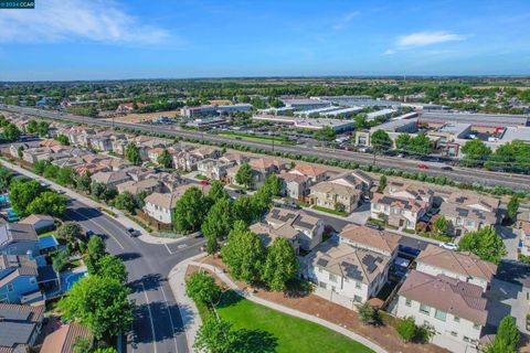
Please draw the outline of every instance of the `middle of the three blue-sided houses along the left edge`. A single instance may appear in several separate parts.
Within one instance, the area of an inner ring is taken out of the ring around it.
[[[42,300],[38,265],[32,256],[0,255],[0,302],[30,303]]]

